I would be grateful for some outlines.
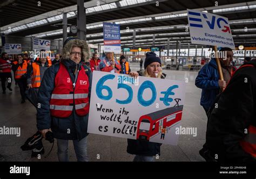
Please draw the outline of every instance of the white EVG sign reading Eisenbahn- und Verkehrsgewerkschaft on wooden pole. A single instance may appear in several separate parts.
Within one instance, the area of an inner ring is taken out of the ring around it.
[[[191,44],[203,44],[235,49],[228,19],[212,13],[187,10]]]

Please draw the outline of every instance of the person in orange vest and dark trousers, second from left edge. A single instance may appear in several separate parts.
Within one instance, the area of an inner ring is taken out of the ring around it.
[[[15,81],[17,81],[19,86],[19,91],[21,92],[22,102],[25,103],[25,90],[26,90],[26,74],[27,74],[27,68],[28,63],[26,60],[23,60],[22,54],[18,54],[17,56],[18,61],[15,61],[11,67],[11,69],[14,71],[14,78]]]

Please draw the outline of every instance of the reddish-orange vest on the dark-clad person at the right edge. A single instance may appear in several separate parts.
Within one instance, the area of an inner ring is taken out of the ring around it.
[[[240,145],[245,152],[256,157],[256,127],[250,125],[248,127],[248,134],[243,140],[240,141]]]

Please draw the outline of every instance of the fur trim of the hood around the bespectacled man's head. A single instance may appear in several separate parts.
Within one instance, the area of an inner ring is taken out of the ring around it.
[[[71,55],[70,52],[71,52],[71,49],[73,47],[80,47],[80,48],[82,48],[82,58],[81,58],[81,61],[85,61],[85,62],[89,61],[90,48],[87,45],[85,40],[80,40],[80,39],[72,39],[72,40],[69,40],[65,44],[65,46],[62,49],[62,59],[63,60],[70,59],[70,55]]]

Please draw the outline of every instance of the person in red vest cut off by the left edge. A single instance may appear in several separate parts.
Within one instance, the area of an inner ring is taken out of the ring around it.
[[[11,61],[9,60],[9,56],[6,52],[2,53],[2,58],[0,58],[0,76],[1,76],[1,82],[2,82],[2,90],[3,94],[5,94],[5,82],[8,81],[7,88],[12,91],[11,89],[11,82],[12,82],[12,76],[11,76]]]

